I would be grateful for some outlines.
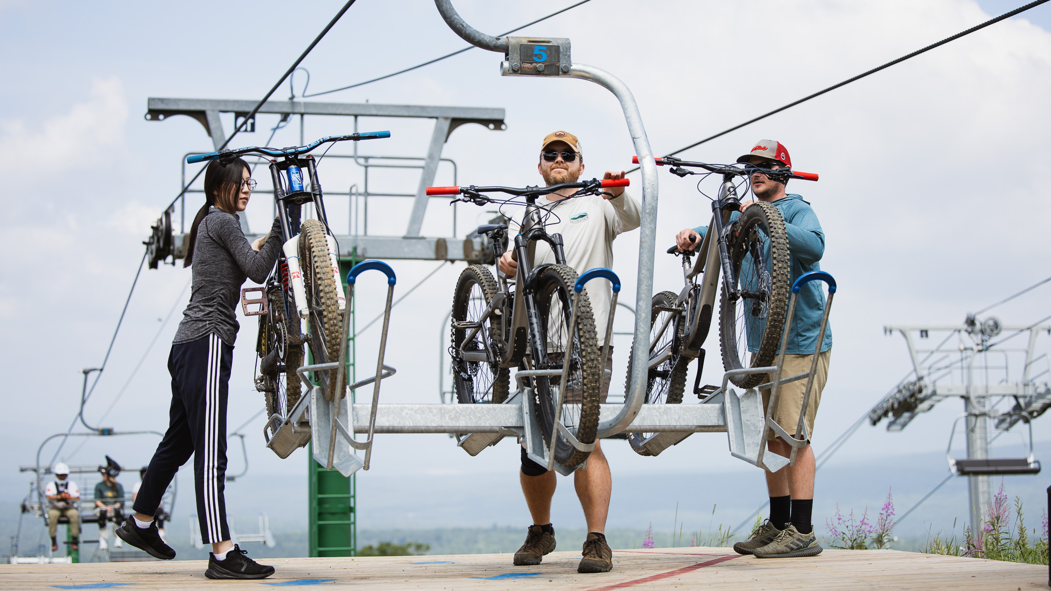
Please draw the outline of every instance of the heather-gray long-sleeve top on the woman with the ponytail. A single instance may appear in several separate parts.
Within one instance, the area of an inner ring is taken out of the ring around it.
[[[257,252],[234,215],[211,207],[198,226],[193,245],[193,289],[173,344],[189,343],[214,332],[227,345],[238,339],[236,306],[246,279],[266,281],[283,244],[275,218],[270,238]]]

